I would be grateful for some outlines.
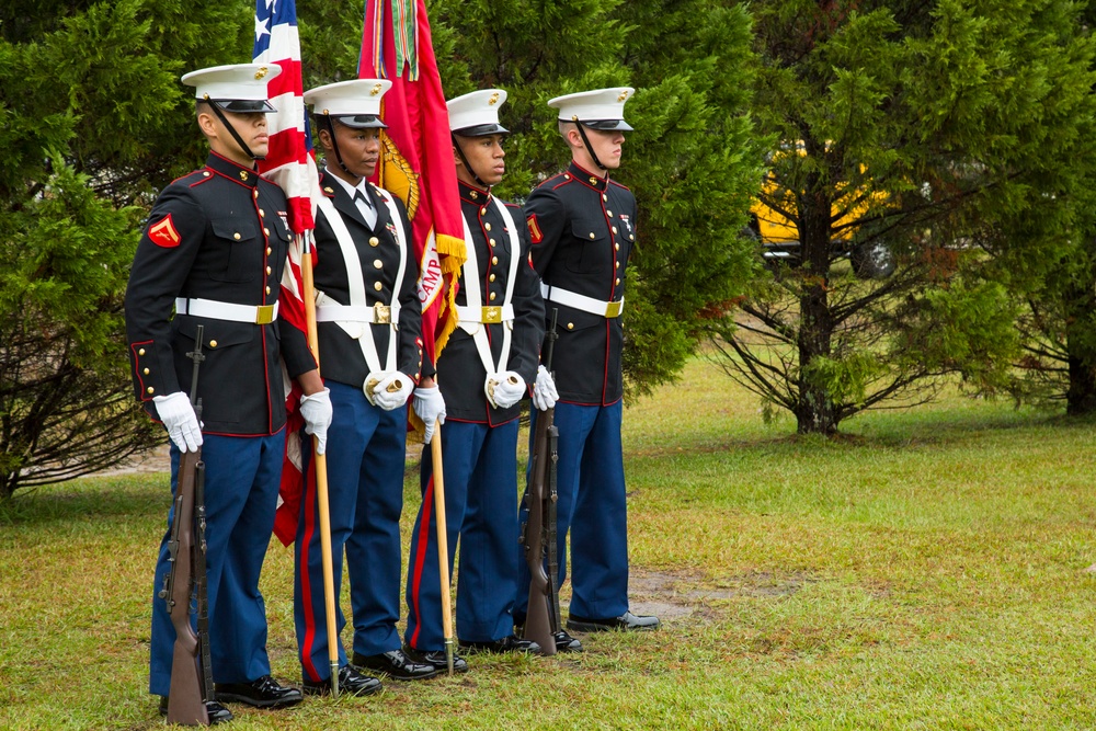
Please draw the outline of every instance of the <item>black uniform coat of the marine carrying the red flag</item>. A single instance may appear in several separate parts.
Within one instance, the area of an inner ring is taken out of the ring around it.
[[[514,283],[511,304],[514,306],[513,333],[510,343],[507,370],[517,373],[528,386],[533,386],[540,363],[540,342],[545,334],[544,299],[540,296],[540,277],[528,263],[529,235],[523,226],[524,213],[520,206],[507,203],[506,208],[517,228],[520,251],[510,243],[510,230],[502,214],[495,207],[490,193],[460,183],[460,209],[472,240],[466,245],[476,248],[476,263],[479,266],[480,296],[482,306],[501,305],[506,294],[510,277],[510,262],[520,256],[517,281]],[[461,270],[461,277],[465,270]],[[461,279],[463,281],[463,279]],[[495,299],[491,299],[494,293]],[[466,287],[457,290],[457,305],[466,306]],[[502,354],[503,328],[505,322],[484,323],[491,356],[499,363]],[[480,359],[472,335],[457,328],[449,335],[448,343],[437,358],[437,384],[445,398],[446,419],[487,423],[491,426],[517,419],[520,407],[492,409],[483,391],[487,369]]]

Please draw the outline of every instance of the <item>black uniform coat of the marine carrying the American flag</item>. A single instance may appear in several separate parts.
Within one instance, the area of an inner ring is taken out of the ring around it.
[[[400,264],[400,244],[396,238],[396,227],[399,226],[403,229],[409,251],[407,252],[407,265],[403,270],[403,281],[400,283],[400,324],[399,341],[396,344],[396,368],[418,384],[424,365],[422,362],[422,307],[419,304],[418,290],[419,262],[411,244],[411,224],[408,222],[403,202],[374,185],[366,185],[369,202],[373,204],[374,210],[377,212],[377,222],[373,228],[369,228],[366,226],[365,219],[362,218],[357,205],[346,194],[346,189],[326,170],[320,175],[320,189],[342,215],[351,239],[354,240],[365,282],[366,301],[362,304],[367,307],[392,304],[396,273]],[[388,205],[384,203],[381,196],[396,202],[399,220],[391,219]],[[316,252],[317,263],[312,274],[317,292],[322,292],[340,305],[350,305],[346,264],[339,247],[339,240],[335,239],[331,225],[323,216],[322,210],[317,210],[316,214]],[[377,266],[377,262],[380,263],[380,266]],[[378,283],[379,289],[377,289]],[[392,325],[372,324],[369,327],[373,328],[377,356],[380,359],[380,367],[384,368]],[[334,322],[319,322],[317,328],[320,340],[320,373],[323,378],[362,388],[366,376],[369,375],[369,366],[362,353],[362,345]],[[425,365],[426,374],[431,375],[433,370],[430,364]]]

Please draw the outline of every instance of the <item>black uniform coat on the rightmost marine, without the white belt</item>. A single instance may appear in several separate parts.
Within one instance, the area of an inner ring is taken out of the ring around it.
[[[533,265],[545,285],[601,301],[624,296],[628,255],[636,242],[636,197],[574,162],[529,195],[525,213]],[[561,401],[608,406],[624,393],[620,318],[605,318],[553,301],[559,340],[552,369]]]

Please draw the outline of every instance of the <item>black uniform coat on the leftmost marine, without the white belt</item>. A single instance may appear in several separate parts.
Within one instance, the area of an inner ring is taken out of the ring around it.
[[[259,325],[172,318],[172,308],[176,297],[276,302],[292,238],[287,209],[282,189],[213,152],[205,168],[160,194],[137,244],[125,302],[134,388],[153,418],[153,397],[190,392],[194,363],[186,353],[203,324],[203,431],[259,436],[285,424],[278,355],[290,377],[313,369],[305,334],[281,317]]]

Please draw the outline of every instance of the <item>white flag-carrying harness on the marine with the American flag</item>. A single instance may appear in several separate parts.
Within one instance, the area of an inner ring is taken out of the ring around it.
[[[392,299],[390,306],[390,318],[381,315],[384,306],[370,307],[365,295],[365,279],[362,276],[362,260],[357,255],[357,247],[354,239],[343,222],[342,216],[335,210],[334,204],[326,195],[319,196],[317,205],[331,231],[335,235],[339,248],[342,250],[343,262],[346,265],[346,282],[350,289],[350,305],[342,305],[328,297],[322,292],[316,292],[316,321],[334,322],[342,328],[351,338],[355,339],[362,346],[362,355],[369,366],[370,373],[383,370],[396,370],[396,332],[400,323],[400,285],[403,284],[403,272],[408,262],[408,241],[403,227],[399,225],[400,214],[396,204],[388,195],[378,196],[388,206],[388,215],[395,224],[396,240],[400,245],[400,265],[396,271],[396,284],[392,285]],[[380,356],[377,354],[377,344],[373,340],[373,323],[390,322],[392,334],[388,339],[388,353],[386,354],[384,367],[380,364]]]

